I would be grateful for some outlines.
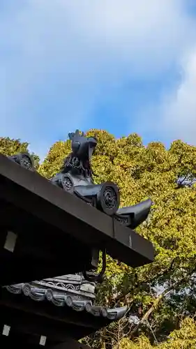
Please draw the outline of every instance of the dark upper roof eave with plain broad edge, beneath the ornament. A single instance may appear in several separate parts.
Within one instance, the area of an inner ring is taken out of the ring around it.
[[[88,272],[103,246],[132,267],[153,261],[144,237],[2,154],[0,214],[1,285]]]

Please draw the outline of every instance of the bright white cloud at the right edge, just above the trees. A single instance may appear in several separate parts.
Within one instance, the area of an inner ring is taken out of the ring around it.
[[[162,106],[163,128],[170,138],[196,145],[196,45],[181,63],[181,83]]]

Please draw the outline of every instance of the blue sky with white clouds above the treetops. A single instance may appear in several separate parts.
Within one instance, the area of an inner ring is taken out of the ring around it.
[[[75,128],[196,145],[195,1],[1,0],[0,126],[41,158]]]

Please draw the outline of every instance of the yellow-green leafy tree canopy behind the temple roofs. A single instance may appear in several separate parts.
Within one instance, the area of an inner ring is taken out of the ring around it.
[[[128,313],[86,343],[105,349],[195,348],[196,147],[181,140],[169,149],[161,142],[144,146],[135,133],[120,139],[99,130],[87,135],[98,138],[92,158],[95,183],[114,181],[121,206],[153,201],[149,218],[137,232],[154,244],[156,258],[133,269],[107,256],[97,302],[126,304]],[[0,139],[3,154],[27,149],[20,140]],[[69,152],[69,140],[56,142],[38,172],[52,177]]]

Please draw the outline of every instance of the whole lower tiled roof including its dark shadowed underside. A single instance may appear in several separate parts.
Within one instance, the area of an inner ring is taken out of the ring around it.
[[[62,343],[67,336],[81,339],[127,312],[127,307],[96,305],[95,288],[82,274],[4,286],[0,288],[2,325],[10,326],[13,335],[46,336],[48,343]]]

